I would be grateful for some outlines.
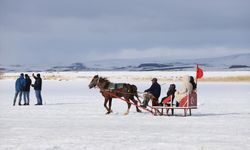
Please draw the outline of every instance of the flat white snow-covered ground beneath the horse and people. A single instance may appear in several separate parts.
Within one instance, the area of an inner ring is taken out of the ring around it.
[[[124,74],[133,73],[103,76],[133,83],[139,91],[150,86],[150,81],[126,80]],[[155,74],[148,72],[150,77]],[[12,106],[14,83],[0,80],[1,150],[250,149],[249,82],[200,82],[198,109],[190,117],[137,113],[133,106],[124,116],[127,105],[118,99],[113,100],[114,112],[105,115],[103,98],[97,89],[88,89],[89,79],[44,80],[46,105],[34,106],[32,89],[30,106]],[[169,84],[162,85],[161,97]]]

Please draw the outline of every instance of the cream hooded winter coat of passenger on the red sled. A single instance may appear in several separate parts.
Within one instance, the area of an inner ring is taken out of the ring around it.
[[[191,94],[192,91],[193,91],[193,85],[190,83],[190,77],[183,76],[182,88],[181,90],[175,92],[176,101],[180,102],[183,97]]]

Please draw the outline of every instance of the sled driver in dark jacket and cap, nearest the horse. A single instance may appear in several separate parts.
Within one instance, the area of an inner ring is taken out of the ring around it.
[[[144,97],[144,101],[142,102],[141,107],[147,107],[148,102],[150,100],[155,100],[156,103],[158,103],[158,98],[161,95],[161,86],[160,84],[157,82],[156,78],[153,78],[152,80],[152,85],[149,89],[145,90],[144,92],[146,92],[145,94],[143,94]]]

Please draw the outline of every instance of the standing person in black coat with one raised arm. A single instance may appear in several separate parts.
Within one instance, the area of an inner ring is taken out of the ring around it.
[[[36,93],[36,99],[37,99],[37,104],[36,105],[42,105],[42,96],[41,96],[41,91],[42,91],[42,78],[40,74],[38,73],[37,76],[32,74],[33,78],[35,79],[35,83],[32,84],[31,86],[34,87],[35,93]]]

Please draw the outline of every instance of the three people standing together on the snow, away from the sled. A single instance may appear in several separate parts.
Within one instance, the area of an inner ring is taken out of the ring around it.
[[[15,96],[14,96],[14,102],[13,106],[16,104],[16,99],[19,96],[19,102],[18,105],[22,105],[22,97],[24,100],[23,105],[29,105],[30,104],[30,86],[34,87],[37,103],[36,105],[42,105],[42,78],[40,74],[38,73],[36,76],[34,73],[32,74],[33,78],[35,79],[35,83],[32,84],[32,80],[30,79],[28,74],[21,73],[19,78],[16,80],[15,83]]]

